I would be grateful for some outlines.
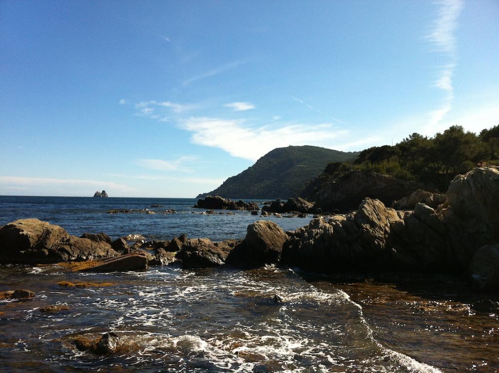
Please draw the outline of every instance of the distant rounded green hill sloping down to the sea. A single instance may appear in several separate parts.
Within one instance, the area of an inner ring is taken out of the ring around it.
[[[355,158],[358,152],[341,152],[318,146],[288,146],[274,149],[239,175],[227,179],[212,192],[200,194],[225,198],[287,199],[322,173],[330,162]]]

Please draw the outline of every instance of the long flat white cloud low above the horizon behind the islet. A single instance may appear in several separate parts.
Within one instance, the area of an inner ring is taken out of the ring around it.
[[[0,176],[0,187],[3,189],[32,190],[38,195],[58,196],[93,196],[96,190],[106,190],[112,197],[131,196],[136,188],[109,181],[55,179],[41,177]]]

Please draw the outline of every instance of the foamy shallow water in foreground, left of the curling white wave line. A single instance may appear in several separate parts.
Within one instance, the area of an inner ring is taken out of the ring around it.
[[[1,286],[33,300],[2,302],[2,370],[76,372],[439,372],[383,347],[343,291],[291,269],[177,268],[109,274],[1,268]],[[65,288],[59,281],[111,282]],[[282,303],[273,300],[275,294]],[[47,315],[39,308],[65,304]],[[74,335],[114,331],[123,355],[80,352]],[[29,363],[28,363],[29,362]]]

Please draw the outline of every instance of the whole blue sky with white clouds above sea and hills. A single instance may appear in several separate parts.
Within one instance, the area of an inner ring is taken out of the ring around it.
[[[499,1],[0,1],[0,195],[195,197],[499,124]]]

